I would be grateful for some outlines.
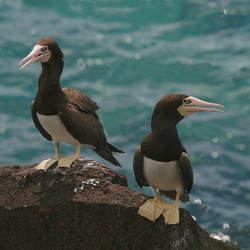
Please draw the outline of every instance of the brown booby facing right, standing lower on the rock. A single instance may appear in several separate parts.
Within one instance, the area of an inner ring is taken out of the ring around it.
[[[138,211],[151,221],[162,214],[166,224],[178,224],[179,200],[183,203],[189,201],[193,170],[176,125],[186,115],[201,111],[222,111],[202,106],[224,108],[220,104],[183,94],[166,95],[155,106],[151,120],[152,132],[137,147],[133,162],[139,186],[151,186],[154,193],[154,198],[147,200]],[[167,204],[160,195],[175,201]]]

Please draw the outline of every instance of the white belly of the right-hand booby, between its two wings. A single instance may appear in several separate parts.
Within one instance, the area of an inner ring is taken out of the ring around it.
[[[164,191],[184,191],[177,161],[160,162],[145,156],[143,160],[143,174],[150,186]]]

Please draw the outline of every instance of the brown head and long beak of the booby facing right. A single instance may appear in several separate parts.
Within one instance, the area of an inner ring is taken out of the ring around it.
[[[152,116],[152,128],[162,121],[177,124],[185,116],[202,111],[223,112],[221,104],[205,102],[193,96],[183,94],[170,94],[164,96],[155,106]]]

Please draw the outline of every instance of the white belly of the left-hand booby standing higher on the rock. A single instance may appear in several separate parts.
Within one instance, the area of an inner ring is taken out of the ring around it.
[[[51,135],[53,141],[65,142],[68,144],[78,145],[79,142],[67,131],[58,115],[40,115],[37,117],[42,127]]]

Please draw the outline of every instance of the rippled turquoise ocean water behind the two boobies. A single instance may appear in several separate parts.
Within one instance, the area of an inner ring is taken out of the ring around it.
[[[109,141],[126,151],[116,154],[122,169],[89,149],[82,156],[126,174],[139,192],[152,194],[136,184],[132,159],[156,102],[183,93],[225,106],[178,125],[195,175],[181,207],[210,234],[250,249],[250,1],[2,0],[0,22],[1,166],[54,154],[30,116],[40,65],[18,65],[50,36],[65,55],[61,85],[100,105]]]

